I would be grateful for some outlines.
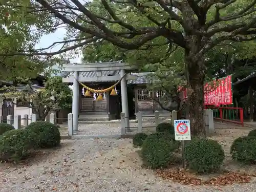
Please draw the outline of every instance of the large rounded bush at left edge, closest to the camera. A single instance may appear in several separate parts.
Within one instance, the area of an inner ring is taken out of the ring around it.
[[[34,148],[36,134],[29,130],[10,130],[0,139],[0,160],[19,161]]]

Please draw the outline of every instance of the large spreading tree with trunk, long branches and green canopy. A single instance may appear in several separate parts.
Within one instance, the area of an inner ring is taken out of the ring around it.
[[[14,0],[3,3],[7,7],[17,7]],[[182,49],[184,57],[181,59],[191,89],[188,97],[191,131],[195,135],[205,134],[203,84],[207,53],[230,41],[256,38],[256,2],[251,0],[101,0],[84,4],[78,0],[35,0],[18,1],[18,4],[23,4],[20,9],[25,10],[25,15],[33,14],[42,20],[48,18],[54,23],[54,27],[47,22],[42,25],[40,29],[45,33],[61,24],[67,26],[68,32],[59,51],[47,53],[30,49],[8,55],[76,52],[104,40],[119,49],[135,52],[164,46],[166,48],[161,51],[166,50],[168,55],[169,47]]]

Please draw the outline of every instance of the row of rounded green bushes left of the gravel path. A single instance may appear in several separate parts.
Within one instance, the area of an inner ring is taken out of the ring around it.
[[[9,124],[0,123],[0,133],[1,161],[17,162],[30,150],[55,147],[60,143],[58,127],[45,121],[32,122],[24,130],[15,130]]]

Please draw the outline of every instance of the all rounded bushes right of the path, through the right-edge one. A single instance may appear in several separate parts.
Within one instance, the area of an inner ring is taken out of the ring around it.
[[[160,123],[157,133],[137,134],[133,144],[142,147],[142,158],[151,168],[166,167],[179,148],[175,141],[174,127],[169,123]],[[233,141],[230,154],[234,160],[243,163],[256,163],[256,130],[248,136]],[[214,140],[195,138],[185,145],[185,160],[188,168],[198,173],[215,172],[223,163],[225,154],[222,146]]]

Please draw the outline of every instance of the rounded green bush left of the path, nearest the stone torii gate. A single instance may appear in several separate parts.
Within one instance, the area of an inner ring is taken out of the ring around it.
[[[37,134],[37,146],[40,148],[55,147],[60,143],[58,126],[50,122],[32,122],[27,126],[26,129]]]

